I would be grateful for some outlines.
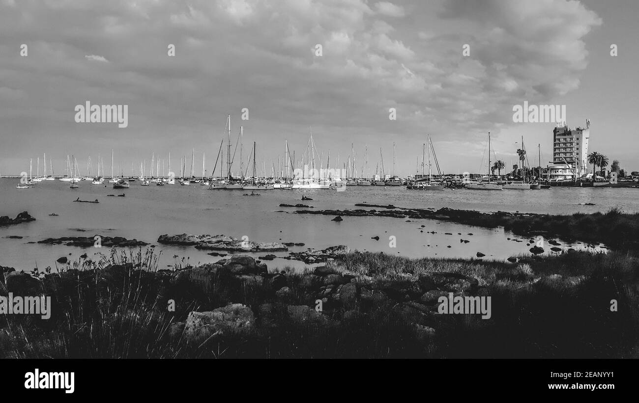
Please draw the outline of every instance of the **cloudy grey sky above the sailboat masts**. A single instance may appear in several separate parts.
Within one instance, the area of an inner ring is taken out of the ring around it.
[[[392,173],[395,142],[396,173],[414,173],[430,134],[445,172],[479,172],[488,131],[507,166],[522,135],[545,164],[554,125],[513,123],[523,101],[590,119],[590,150],[639,170],[636,15],[635,0],[0,0],[0,172],[47,153],[56,173],[67,154],[95,173],[100,153],[108,173],[114,149],[128,175],[193,148],[210,172],[227,114],[267,166],[284,140],[304,152],[309,126],[331,167],[353,143]],[[128,127],[76,123],[87,100],[128,105]]]

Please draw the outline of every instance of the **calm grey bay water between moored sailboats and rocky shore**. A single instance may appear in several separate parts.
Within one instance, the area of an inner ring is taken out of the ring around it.
[[[53,266],[60,256],[75,260],[82,253],[107,253],[107,248],[81,249],[64,245],[27,244],[45,238],[93,235],[120,236],[157,244],[162,234],[190,233],[224,234],[236,238],[246,235],[256,242],[304,242],[304,247],[289,248],[303,251],[307,247],[323,249],[333,245],[348,245],[360,251],[397,253],[401,256],[475,257],[477,252],[486,258],[503,260],[509,256],[528,253],[527,242],[513,242],[520,238],[502,229],[486,229],[462,224],[419,220],[406,223],[390,217],[344,217],[341,223],[332,216],[292,214],[293,208],[279,207],[280,203],[311,205],[319,209],[355,209],[355,203],[393,204],[397,207],[438,209],[473,209],[491,211],[520,211],[550,214],[596,212],[617,207],[625,212],[639,211],[639,189],[554,188],[540,191],[412,191],[404,187],[348,187],[344,192],[328,190],[259,191],[261,196],[242,196],[245,191],[210,191],[199,184],[191,186],[140,186],[112,189],[112,185],[92,185],[82,181],[79,189],[70,189],[68,182],[41,182],[31,189],[15,189],[16,179],[0,179],[0,216],[15,217],[27,211],[36,221],[0,227],[0,265],[31,269],[37,264]],[[126,194],[107,197],[107,194]],[[256,191],[256,193],[258,193]],[[301,201],[302,194],[312,201]],[[99,204],[73,203],[81,200],[100,200]],[[586,206],[584,203],[595,203]],[[285,213],[277,210],[286,210]],[[50,217],[49,214],[59,214]],[[421,228],[425,225],[425,228]],[[84,231],[79,231],[84,230]],[[423,230],[424,232],[420,232]],[[427,231],[435,231],[429,233]],[[454,235],[445,235],[452,233]],[[463,235],[457,235],[462,233]],[[473,235],[466,235],[472,233]],[[9,239],[19,235],[22,239]],[[389,237],[397,239],[396,248],[389,247]],[[376,241],[371,237],[379,236]],[[470,240],[464,244],[460,238]],[[521,239],[521,238],[520,238]],[[448,247],[450,245],[450,247]],[[546,245],[547,247],[547,245]],[[583,245],[572,245],[581,248]],[[191,263],[219,260],[193,247],[158,245],[162,250],[160,268],[173,265],[174,255],[189,257]],[[275,253],[284,256],[287,253]],[[254,255],[258,256],[258,255]],[[304,264],[276,259],[266,262],[269,267]]]

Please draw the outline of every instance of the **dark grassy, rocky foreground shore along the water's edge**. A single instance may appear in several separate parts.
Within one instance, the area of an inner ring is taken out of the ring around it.
[[[267,272],[242,256],[198,268],[177,263],[180,270],[157,270],[152,249],[140,249],[31,275],[3,268],[0,295],[49,295],[52,315],[0,316],[0,355],[639,356],[639,261],[630,254],[503,263],[355,252],[304,273]],[[490,296],[491,318],[437,314],[431,296],[449,291]]]

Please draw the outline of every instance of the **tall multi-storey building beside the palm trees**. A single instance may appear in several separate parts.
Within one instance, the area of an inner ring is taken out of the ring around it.
[[[553,163],[568,163],[581,177],[588,173],[588,140],[590,121],[586,119],[585,128],[568,128],[566,124],[553,130]]]

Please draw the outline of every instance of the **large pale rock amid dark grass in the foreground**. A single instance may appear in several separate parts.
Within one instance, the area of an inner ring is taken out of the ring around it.
[[[253,311],[243,304],[231,304],[207,312],[190,312],[184,335],[188,342],[201,344],[214,335],[245,337],[254,329]]]

